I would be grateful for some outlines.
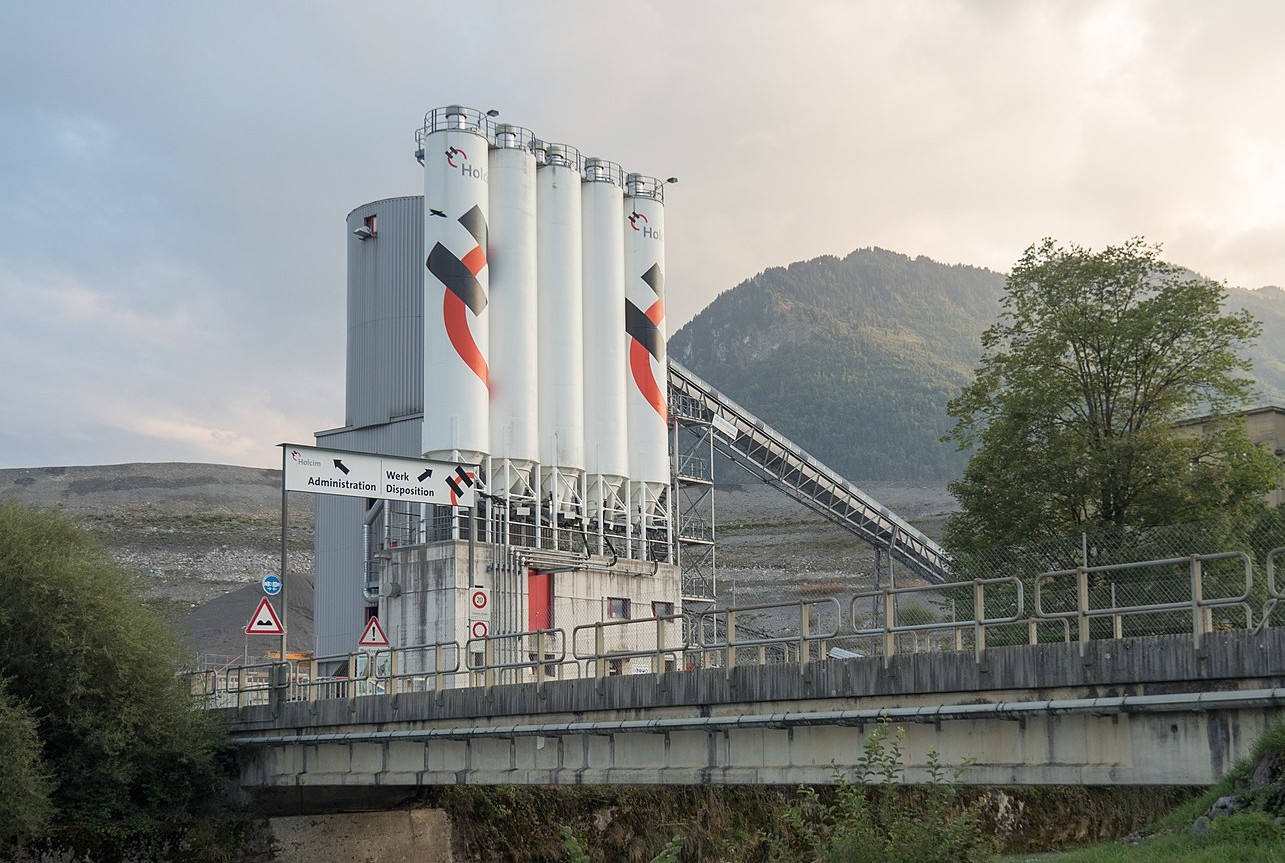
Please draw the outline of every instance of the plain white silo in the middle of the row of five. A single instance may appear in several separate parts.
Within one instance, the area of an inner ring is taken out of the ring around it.
[[[581,280],[581,159],[546,144],[536,170],[540,312],[541,494],[550,518],[583,516],[585,353]]]

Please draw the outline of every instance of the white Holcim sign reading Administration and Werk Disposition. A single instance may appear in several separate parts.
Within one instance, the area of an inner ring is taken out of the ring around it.
[[[473,506],[477,469],[470,465],[296,443],[281,446],[285,447],[285,489],[289,492]]]

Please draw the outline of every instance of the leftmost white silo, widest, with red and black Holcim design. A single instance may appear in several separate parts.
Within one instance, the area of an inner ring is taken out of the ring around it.
[[[424,118],[424,456],[481,464],[491,451],[488,119],[451,105]]]

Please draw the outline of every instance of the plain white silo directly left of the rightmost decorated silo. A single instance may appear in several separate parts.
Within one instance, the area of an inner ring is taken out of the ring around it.
[[[625,173],[605,159],[585,161],[581,186],[585,279],[585,458],[586,514],[625,525],[630,473],[625,407]],[[599,548],[601,551],[601,548]]]

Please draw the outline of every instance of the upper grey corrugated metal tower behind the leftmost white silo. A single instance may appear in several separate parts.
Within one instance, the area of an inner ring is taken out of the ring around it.
[[[375,235],[360,239],[353,231],[370,217]],[[421,195],[375,200],[348,213],[347,426],[424,410],[423,252]],[[419,456],[420,444],[373,452]]]

